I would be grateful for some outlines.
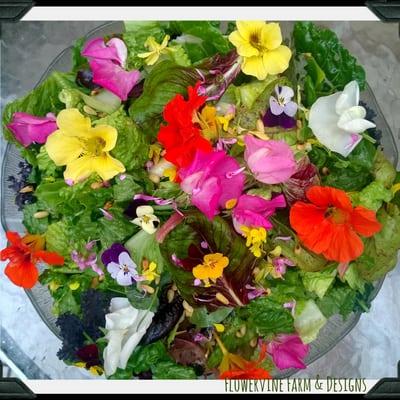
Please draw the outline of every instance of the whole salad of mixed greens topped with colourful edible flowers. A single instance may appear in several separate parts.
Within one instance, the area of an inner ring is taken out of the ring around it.
[[[222,26],[223,25],[223,26]],[[3,113],[25,232],[4,276],[46,285],[58,357],[108,379],[268,379],[366,312],[400,248],[400,174],[365,71],[297,22],[125,23],[78,40]]]

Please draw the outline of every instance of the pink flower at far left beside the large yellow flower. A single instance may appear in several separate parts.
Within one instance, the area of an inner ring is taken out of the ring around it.
[[[57,130],[56,117],[49,113],[45,117],[16,112],[7,128],[24,147],[32,143],[46,143],[47,137]]]

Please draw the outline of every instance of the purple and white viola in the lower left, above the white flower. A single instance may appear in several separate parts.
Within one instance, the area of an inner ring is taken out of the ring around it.
[[[128,250],[120,243],[114,243],[101,256],[111,277],[121,286],[132,285],[141,280],[137,273],[137,265],[131,259]]]

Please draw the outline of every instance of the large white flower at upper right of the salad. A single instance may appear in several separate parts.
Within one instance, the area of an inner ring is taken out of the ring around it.
[[[348,83],[343,92],[320,97],[310,109],[309,126],[329,150],[347,157],[362,139],[360,133],[375,128],[367,121],[364,107],[358,105],[357,81]]]

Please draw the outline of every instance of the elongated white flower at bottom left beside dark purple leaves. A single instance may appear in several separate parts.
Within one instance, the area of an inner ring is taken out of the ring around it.
[[[114,374],[125,369],[129,357],[150,326],[154,313],[138,310],[125,297],[111,299],[110,313],[106,315],[107,347],[104,349],[104,372]]]

